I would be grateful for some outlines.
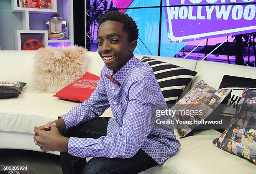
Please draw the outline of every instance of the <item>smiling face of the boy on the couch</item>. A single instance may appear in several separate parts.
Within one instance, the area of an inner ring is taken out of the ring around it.
[[[106,67],[117,72],[133,56],[137,40],[128,42],[128,34],[121,22],[107,20],[98,30],[98,53]]]

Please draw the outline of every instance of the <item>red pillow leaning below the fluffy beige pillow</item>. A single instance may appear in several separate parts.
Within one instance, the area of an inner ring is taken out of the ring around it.
[[[84,100],[90,98],[99,80],[99,76],[86,72],[83,77],[61,89],[54,97],[84,102]]]

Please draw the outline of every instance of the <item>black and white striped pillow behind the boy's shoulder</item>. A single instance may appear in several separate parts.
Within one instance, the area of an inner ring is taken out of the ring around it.
[[[195,71],[146,56],[141,61],[151,66],[167,104],[176,103],[184,88],[197,74]]]

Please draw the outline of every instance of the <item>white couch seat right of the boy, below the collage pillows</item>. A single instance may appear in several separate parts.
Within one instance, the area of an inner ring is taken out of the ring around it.
[[[166,160],[161,172],[159,166],[141,174],[254,174],[255,165],[247,159],[225,152],[212,144],[220,133],[214,129],[197,132],[183,138],[182,147]],[[166,172],[169,169],[169,172]]]

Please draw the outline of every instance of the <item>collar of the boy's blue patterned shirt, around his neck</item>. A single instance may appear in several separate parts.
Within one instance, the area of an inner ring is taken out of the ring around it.
[[[124,77],[128,76],[128,71],[137,65],[137,63],[138,59],[133,55],[133,57],[131,57],[131,59],[125,65],[123,65],[123,67],[121,67],[118,72],[115,73],[114,70],[110,70],[109,73],[112,77],[114,77],[116,81],[122,85],[122,82],[125,79]]]

